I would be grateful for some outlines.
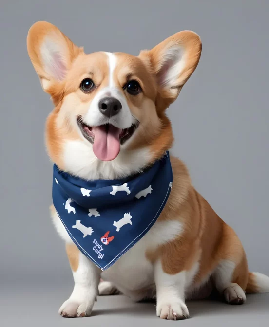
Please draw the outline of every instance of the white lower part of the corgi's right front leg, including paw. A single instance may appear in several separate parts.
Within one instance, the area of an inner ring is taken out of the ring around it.
[[[176,274],[165,273],[159,260],[154,267],[154,278],[157,295],[157,316],[168,320],[188,318],[189,310],[184,298],[186,271]]]

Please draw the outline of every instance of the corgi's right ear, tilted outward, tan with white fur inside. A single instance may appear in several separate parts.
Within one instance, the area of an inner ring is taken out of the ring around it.
[[[143,50],[139,57],[154,74],[158,96],[168,107],[177,98],[198,65],[202,51],[200,37],[192,31],[182,31],[168,37],[152,50]]]

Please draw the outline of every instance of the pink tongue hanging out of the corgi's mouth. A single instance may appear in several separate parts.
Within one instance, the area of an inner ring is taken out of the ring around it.
[[[93,150],[96,157],[102,161],[111,161],[119,154],[120,143],[119,134],[121,130],[117,127],[109,125],[92,127],[95,135]]]

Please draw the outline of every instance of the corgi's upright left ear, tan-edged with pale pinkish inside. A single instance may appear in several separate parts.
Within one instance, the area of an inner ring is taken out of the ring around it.
[[[77,55],[83,53],[56,26],[38,21],[29,30],[27,50],[44,91],[62,82]]]

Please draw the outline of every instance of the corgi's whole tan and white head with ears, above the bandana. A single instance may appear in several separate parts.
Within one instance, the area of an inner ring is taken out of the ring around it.
[[[139,56],[85,54],[47,22],[27,48],[55,109],[46,125],[51,159],[82,178],[120,178],[163,156],[173,143],[165,110],[195,70],[201,41],[183,31]]]

